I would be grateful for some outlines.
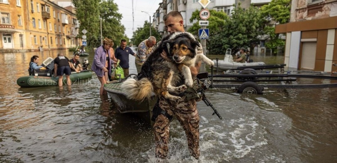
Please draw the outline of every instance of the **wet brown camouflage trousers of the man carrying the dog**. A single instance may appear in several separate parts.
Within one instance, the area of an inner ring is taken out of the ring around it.
[[[196,109],[196,101],[187,101],[182,97],[179,101],[168,101],[160,98],[159,106],[169,115],[176,116],[185,130],[188,150],[196,159],[200,156],[199,151],[199,115]],[[160,114],[153,126],[156,144],[156,157],[165,159],[168,152],[168,138],[170,132],[170,121]]]

